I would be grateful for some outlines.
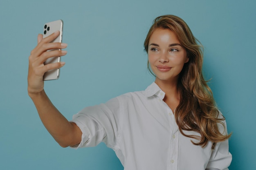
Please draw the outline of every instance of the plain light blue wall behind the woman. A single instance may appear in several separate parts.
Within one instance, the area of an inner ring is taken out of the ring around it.
[[[61,148],[27,95],[30,51],[43,24],[64,20],[61,77],[45,83],[67,117],[154,81],[143,50],[155,17],[183,18],[204,45],[204,74],[227,119],[230,170],[255,170],[255,0],[0,0],[0,169],[121,170],[115,153]]]

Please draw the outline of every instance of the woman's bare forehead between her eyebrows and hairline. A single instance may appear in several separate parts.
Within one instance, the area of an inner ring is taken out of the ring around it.
[[[175,33],[170,29],[155,29],[149,38],[149,42],[180,43]]]

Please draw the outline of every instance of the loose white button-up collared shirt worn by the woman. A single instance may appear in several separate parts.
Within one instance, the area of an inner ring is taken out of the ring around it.
[[[84,108],[73,116],[83,133],[74,148],[103,141],[116,152],[124,170],[228,170],[232,159],[228,140],[217,143],[214,150],[211,142],[204,148],[192,144],[195,139],[180,133],[164,95],[153,83],[145,91]]]

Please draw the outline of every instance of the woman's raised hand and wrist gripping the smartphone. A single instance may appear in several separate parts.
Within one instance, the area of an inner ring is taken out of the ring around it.
[[[55,31],[46,38],[43,38],[42,34],[38,35],[38,44],[31,51],[29,56],[29,69],[27,77],[29,96],[43,91],[43,77],[47,71],[61,68],[65,64],[65,62],[44,64],[49,58],[66,55],[67,51],[59,49],[65,49],[67,44],[54,42],[59,35],[61,35],[59,31]]]

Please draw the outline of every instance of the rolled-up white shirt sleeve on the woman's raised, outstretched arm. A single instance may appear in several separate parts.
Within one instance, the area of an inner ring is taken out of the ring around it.
[[[70,121],[82,131],[80,144],[71,147],[92,147],[104,142],[108,147],[114,148],[117,140],[118,119],[117,98],[110,99],[105,104],[84,108]]]

